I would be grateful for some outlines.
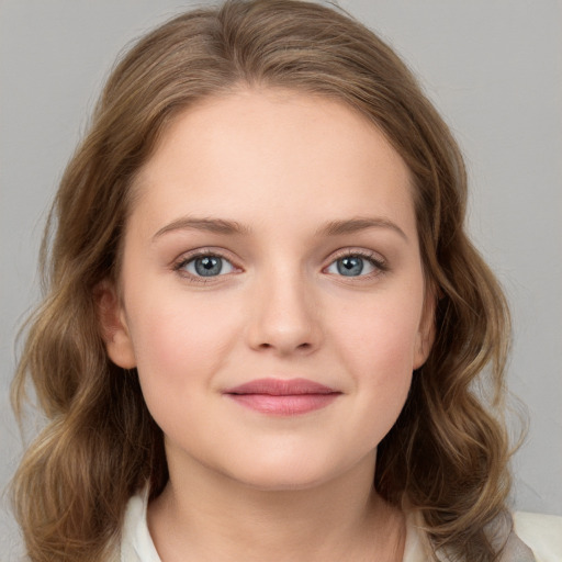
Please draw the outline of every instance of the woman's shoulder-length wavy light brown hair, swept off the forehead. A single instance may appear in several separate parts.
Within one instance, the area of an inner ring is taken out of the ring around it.
[[[234,0],[181,14],[140,38],[105,85],[47,222],[45,296],[26,325],[12,386],[20,419],[29,381],[47,418],[12,488],[29,558],[104,560],[128,498],[147,481],[155,497],[167,482],[161,431],[136,372],[106,357],[94,292],[119,278],[132,186],[167,126],[240,85],[339,100],[407,164],[425,274],[438,295],[436,339],[379,446],[374,485],[422,514],[434,552],[495,560],[485,528],[506,513],[510,481],[505,427],[492,412],[504,396],[509,318],[464,231],[462,157],[386,44],[339,11],[296,0]]]

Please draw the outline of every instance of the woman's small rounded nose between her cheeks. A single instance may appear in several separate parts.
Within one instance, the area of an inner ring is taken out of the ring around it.
[[[322,341],[313,291],[299,271],[262,279],[251,295],[248,344],[279,356],[314,352]]]

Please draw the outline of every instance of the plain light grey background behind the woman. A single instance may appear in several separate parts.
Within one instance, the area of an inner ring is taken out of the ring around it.
[[[8,387],[16,326],[37,300],[45,212],[116,54],[189,5],[0,0],[0,487],[21,450]],[[512,303],[509,385],[531,419],[514,504],[562,515],[562,1],[340,5],[422,77],[464,150],[470,228]],[[0,560],[16,544],[4,499]]]

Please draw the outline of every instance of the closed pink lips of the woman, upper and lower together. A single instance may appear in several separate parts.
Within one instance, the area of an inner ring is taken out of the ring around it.
[[[293,416],[323,408],[341,392],[306,379],[257,379],[224,394],[262,414]]]

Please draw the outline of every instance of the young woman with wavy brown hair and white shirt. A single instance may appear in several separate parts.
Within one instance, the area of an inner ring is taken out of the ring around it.
[[[231,1],[144,37],[45,236],[29,558],[555,560],[560,520],[506,504],[508,313],[465,198],[412,75],[334,10]]]

